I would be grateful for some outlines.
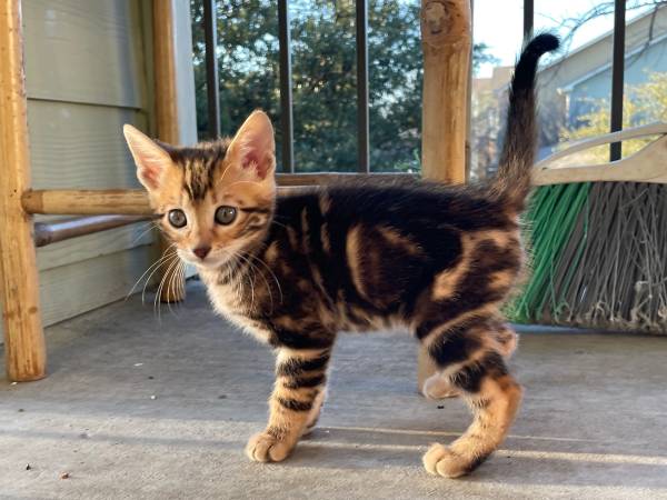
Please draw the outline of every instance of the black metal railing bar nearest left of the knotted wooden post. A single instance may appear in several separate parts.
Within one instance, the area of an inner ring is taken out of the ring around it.
[[[368,106],[368,1],[357,0],[357,127],[358,171],[370,172]]]

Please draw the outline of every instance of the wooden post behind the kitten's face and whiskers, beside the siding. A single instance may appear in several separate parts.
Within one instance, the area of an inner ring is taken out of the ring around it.
[[[179,117],[178,117],[178,93],[176,81],[176,47],[173,28],[173,1],[157,0],[153,1],[153,64],[156,81],[156,124],[158,138],[171,144],[180,142]],[[170,282],[172,273],[176,272],[176,266],[170,266],[173,259],[178,259],[176,251],[169,248],[168,242],[160,238],[160,253],[162,257],[169,254],[163,260],[160,268],[161,279]],[[186,287],[182,279],[173,277],[176,287],[162,287],[160,300],[162,302],[179,302],[186,298]]]

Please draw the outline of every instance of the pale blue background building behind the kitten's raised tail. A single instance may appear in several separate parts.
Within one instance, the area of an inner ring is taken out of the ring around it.
[[[611,31],[571,51],[567,50],[566,40],[565,53],[541,69],[540,158],[565,140],[608,131],[613,44]],[[667,120],[657,102],[663,87],[667,97],[667,82],[660,79],[667,72],[667,7],[657,7],[628,22],[625,52],[626,96],[634,98],[626,106],[626,121],[639,124]],[[510,77],[511,67],[499,67],[490,78],[474,79],[474,177],[485,177],[496,169]],[[647,89],[647,84],[653,88]],[[653,98],[647,90],[653,90]],[[656,102],[651,103],[651,99]]]

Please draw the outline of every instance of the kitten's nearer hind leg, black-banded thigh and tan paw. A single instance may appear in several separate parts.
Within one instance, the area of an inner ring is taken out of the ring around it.
[[[432,474],[458,478],[475,470],[502,442],[521,400],[508,373],[489,321],[447,326],[424,338],[442,377],[461,392],[474,413],[468,430],[448,447],[434,444],[424,456]]]

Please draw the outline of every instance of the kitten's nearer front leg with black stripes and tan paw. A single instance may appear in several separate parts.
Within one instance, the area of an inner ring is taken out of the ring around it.
[[[246,453],[258,462],[285,460],[315,426],[323,401],[330,349],[280,349],[269,423],[248,441]]]

